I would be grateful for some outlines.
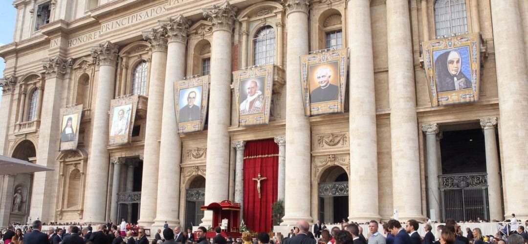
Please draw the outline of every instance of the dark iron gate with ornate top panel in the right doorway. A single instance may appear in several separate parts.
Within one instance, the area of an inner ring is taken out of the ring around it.
[[[486,173],[439,175],[442,219],[489,219]]]

